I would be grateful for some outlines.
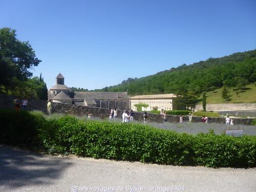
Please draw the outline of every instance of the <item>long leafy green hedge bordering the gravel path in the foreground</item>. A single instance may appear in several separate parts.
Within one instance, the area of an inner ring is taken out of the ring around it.
[[[0,122],[1,143],[37,145],[49,153],[172,165],[256,165],[255,136],[234,138],[213,132],[193,136],[139,123],[84,122],[71,116],[46,121],[14,111],[0,111]]]

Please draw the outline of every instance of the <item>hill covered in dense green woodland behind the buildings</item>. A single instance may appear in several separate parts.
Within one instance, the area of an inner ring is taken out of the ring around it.
[[[122,92],[130,95],[191,93],[200,95],[221,88],[236,87],[238,83],[256,81],[256,49],[234,53],[221,58],[208,58],[191,65],[159,72],[142,78],[128,78],[122,83],[94,91]]]

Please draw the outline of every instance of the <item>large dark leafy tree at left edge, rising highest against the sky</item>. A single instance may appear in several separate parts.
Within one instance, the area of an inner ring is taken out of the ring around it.
[[[11,28],[0,29],[0,85],[14,89],[17,81],[24,81],[32,76],[29,71],[41,62],[28,41],[16,38],[16,31]]]

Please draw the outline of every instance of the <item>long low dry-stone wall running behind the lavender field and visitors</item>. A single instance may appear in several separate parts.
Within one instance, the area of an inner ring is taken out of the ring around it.
[[[0,108],[13,109],[13,99],[14,96],[6,96],[0,94]],[[38,99],[29,99],[28,110],[39,110],[44,113],[47,112],[47,101]],[[104,108],[94,108],[90,106],[80,106],[74,104],[62,104],[62,103],[52,103],[52,113],[63,113],[77,116],[84,116],[90,112],[93,117],[99,117],[102,119],[109,118],[109,110]],[[118,110],[118,117],[121,118],[122,111]],[[134,112],[134,119],[143,122],[143,112]],[[159,114],[148,113],[148,122],[163,122],[163,119]],[[179,122],[180,116],[178,115],[167,115],[167,122]],[[188,116],[183,116],[183,121],[188,121]],[[201,122],[201,117],[193,117],[193,122]],[[212,123],[225,123],[225,118],[209,117],[208,122]],[[234,124],[245,124],[250,125],[252,122],[251,118],[234,118]]]

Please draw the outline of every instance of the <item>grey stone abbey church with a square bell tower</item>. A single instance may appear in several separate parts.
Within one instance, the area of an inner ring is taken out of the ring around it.
[[[56,84],[48,91],[48,99],[57,103],[68,103],[97,108],[130,109],[130,96],[127,92],[77,92],[65,86],[64,77],[60,73]]]

